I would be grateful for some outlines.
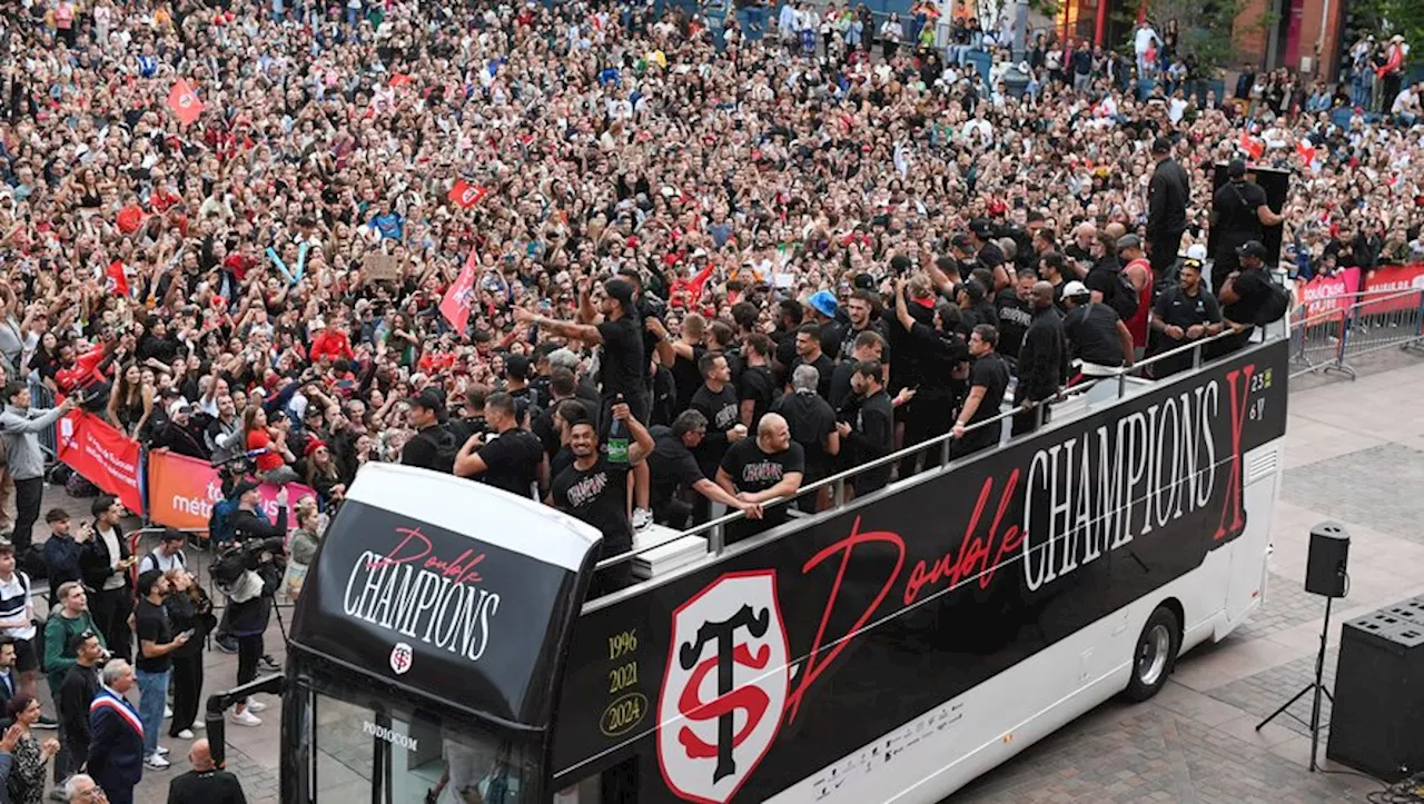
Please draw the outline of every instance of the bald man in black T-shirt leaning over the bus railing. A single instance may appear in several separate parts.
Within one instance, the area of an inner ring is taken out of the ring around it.
[[[806,475],[806,451],[792,441],[792,428],[779,413],[768,413],[756,438],[743,438],[722,455],[716,484],[745,502],[765,504],[787,498],[800,490]],[[740,519],[726,528],[726,544],[775,528],[786,521],[786,505],[766,508],[762,521]]]

